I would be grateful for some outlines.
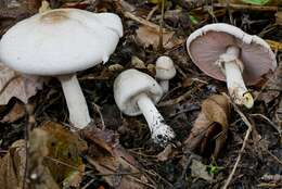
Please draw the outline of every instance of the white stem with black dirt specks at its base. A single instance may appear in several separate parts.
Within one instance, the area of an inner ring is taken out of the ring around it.
[[[165,124],[164,117],[145,93],[139,94],[137,99],[138,106],[148,122],[152,139],[159,146],[165,146],[175,137],[174,130]]]

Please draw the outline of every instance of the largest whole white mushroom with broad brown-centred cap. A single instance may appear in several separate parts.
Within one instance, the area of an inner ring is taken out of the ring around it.
[[[76,72],[105,63],[121,36],[120,18],[113,13],[49,10],[17,23],[3,35],[0,60],[20,73],[56,76],[70,123],[84,128],[91,118]]]

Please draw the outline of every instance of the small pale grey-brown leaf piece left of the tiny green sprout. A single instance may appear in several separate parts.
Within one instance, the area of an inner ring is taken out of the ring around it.
[[[211,175],[208,174],[207,165],[204,165],[202,162],[197,160],[192,160],[190,168],[192,177],[203,178],[204,180],[213,181],[214,178],[211,177]]]

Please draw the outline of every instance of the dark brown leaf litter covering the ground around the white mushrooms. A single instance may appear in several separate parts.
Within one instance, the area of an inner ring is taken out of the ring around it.
[[[22,1],[25,0],[18,2]],[[98,127],[82,130],[80,135],[69,133],[66,128],[68,123],[65,116],[61,116],[66,114],[65,104],[63,98],[57,96],[62,91],[55,80],[51,80],[42,92],[37,93],[38,89],[42,89],[42,78],[18,75],[8,67],[0,66],[2,135],[11,135],[10,128],[23,129],[26,126],[24,103],[27,103],[28,99],[35,104],[36,112],[39,104],[40,110],[44,110],[36,114],[37,128],[29,134],[29,168],[26,185],[29,185],[29,188],[50,189],[70,186],[101,189],[222,187],[232,172],[247,125],[236,111],[231,113],[234,111],[225,96],[213,96],[226,92],[225,84],[203,75],[192,64],[184,48],[184,40],[192,30],[202,25],[231,22],[240,27],[241,21],[249,15],[244,23],[248,26],[244,29],[268,39],[278,54],[281,51],[281,34],[278,30],[281,16],[277,12],[280,2],[249,0],[247,3],[254,4],[251,7],[239,0],[229,2],[230,7],[227,7],[227,1],[221,0],[166,1],[164,49],[158,51],[158,24],[162,17],[159,1],[53,0],[52,8],[72,7],[93,12],[118,13],[124,21],[125,37],[105,66],[100,65],[78,75]],[[246,9],[248,11],[244,11]],[[8,15],[7,11],[0,10],[1,34],[25,17],[20,16],[16,11],[9,11]],[[267,23],[256,22],[261,18]],[[119,72],[131,67],[154,77],[155,60],[163,54],[171,56],[176,62],[178,75],[171,80],[171,90],[161,101],[159,110],[166,115],[165,119],[174,127],[178,138],[175,143],[159,150],[148,141],[149,130],[144,127],[145,122],[142,117],[131,118],[115,111],[117,109],[113,105],[112,85]],[[234,173],[231,188],[281,186],[281,137],[277,129],[270,126],[281,128],[280,70],[279,66],[272,76],[270,73],[270,77],[251,88],[257,97],[255,108],[252,111],[242,111],[254,127],[249,139],[244,142],[240,168]],[[56,97],[50,96],[46,99],[50,90]],[[8,103],[12,98],[15,102]],[[101,108],[101,113],[98,113],[98,106],[99,110]],[[55,123],[44,124],[46,121]],[[25,137],[23,133],[17,133],[17,139]],[[26,156],[22,154],[27,152],[25,140],[15,141],[10,149],[2,143],[12,143],[14,140],[7,140],[9,139],[0,140],[0,184],[9,189],[24,185]],[[194,153],[201,154],[203,159],[191,159]],[[187,166],[182,164],[184,160],[190,160]],[[223,167],[223,171],[210,175],[210,165],[216,165],[216,168]]]

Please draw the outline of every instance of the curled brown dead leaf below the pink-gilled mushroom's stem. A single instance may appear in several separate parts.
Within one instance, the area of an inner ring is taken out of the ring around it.
[[[184,141],[183,150],[200,149],[201,153],[211,151],[208,149],[215,140],[214,158],[217,158],[227,139],[230,104],[221,94],[215,94],[203,101],[190,136]]]

